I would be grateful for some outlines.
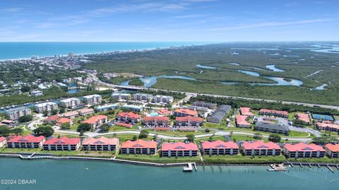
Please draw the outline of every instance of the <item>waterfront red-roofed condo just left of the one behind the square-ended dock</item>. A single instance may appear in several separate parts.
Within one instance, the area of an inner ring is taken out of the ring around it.
[[[120,148],[121,154],[153,155],[156,152],[157,143],[155,141],[143,141],[141,139],[121,143]]]

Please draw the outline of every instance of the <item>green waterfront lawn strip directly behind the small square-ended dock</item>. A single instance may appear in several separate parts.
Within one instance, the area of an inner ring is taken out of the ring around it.
[[[174,163],[174,162],[200,162],[198,156],[167,158],[160,155],[117,155],[117,159],[134,160],[141,162]]]

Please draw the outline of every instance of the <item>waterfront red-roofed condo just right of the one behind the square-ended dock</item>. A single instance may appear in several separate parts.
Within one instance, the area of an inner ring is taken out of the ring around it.
[[[204,141],[201,143],[204,155],[237,155],[239,147],[233,141]]]

